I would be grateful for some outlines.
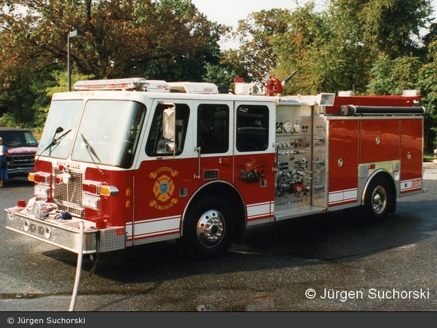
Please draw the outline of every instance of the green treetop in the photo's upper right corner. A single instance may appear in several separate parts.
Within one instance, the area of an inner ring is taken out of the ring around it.
[[[363,44],[370,58],[419,55],[420,28],[431,21],[429,0],[331,0],[329,13],[341,40]]]

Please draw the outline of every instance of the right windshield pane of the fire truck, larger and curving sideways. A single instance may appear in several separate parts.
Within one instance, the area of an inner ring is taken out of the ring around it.
[[[133,101],[88,101],[71,159],[129,168],[145,114]]]

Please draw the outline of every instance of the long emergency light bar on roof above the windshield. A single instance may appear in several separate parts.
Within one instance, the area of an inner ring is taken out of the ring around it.
[[[91,90],[144,90],[149,83],[145,78],[119,78],[112,80],[84,80],[74,83],[78,91]]]

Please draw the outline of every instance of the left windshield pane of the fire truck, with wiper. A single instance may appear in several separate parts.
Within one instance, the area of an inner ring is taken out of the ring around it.
[[[83,101],[52,101],[37,155],[68,157],[82,107]]]

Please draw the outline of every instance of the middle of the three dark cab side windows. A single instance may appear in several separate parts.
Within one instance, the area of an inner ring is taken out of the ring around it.
[[[226,153],[229,149],[228,105],[198,107],[197,146],[203,154]]]

